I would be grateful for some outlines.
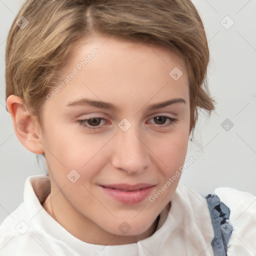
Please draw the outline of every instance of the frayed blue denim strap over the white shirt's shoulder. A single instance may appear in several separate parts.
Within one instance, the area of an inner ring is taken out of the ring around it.
[[[214,256],[226,256],[227,244],[233,231],[233,226],[228,221],[230,210],[216,194],[208,194],[205,198],[214,231],[211,240]]]

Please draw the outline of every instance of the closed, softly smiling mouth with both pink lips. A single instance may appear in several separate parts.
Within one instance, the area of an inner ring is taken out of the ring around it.
[[[155,185],[148,183],[139,184],[104,184],[99,185],[104,194],[114,200],[125,204],[134,204],[143,201]]]

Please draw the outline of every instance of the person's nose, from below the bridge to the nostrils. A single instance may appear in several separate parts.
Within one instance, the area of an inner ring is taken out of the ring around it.
[[[119,129],[115,135],[115,148],[112,154],[112,165],[129,174],[146,171],[150,164],[150,150],[145,139],[137,129],[131,126],[127,131]]]

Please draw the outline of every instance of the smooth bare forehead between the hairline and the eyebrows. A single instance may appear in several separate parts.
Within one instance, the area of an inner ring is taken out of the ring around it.
[[[61,72],[62,83],[66,75],[75,73],[54,97],[66,103],[82,96],[116,104],[188,96],[187,71],[180,56],[155,43],[114,35],[94,34],[80,40]]]

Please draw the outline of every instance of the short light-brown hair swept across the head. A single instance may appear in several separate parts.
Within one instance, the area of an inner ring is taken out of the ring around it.
[[[24,16],[21,29],[15,21]],[[13,21],[6,43],[6,98],[23,98],[40,117],[46,94],[71,48],[91,32],[163,45],[185,62],[189,79],[190,129],[200,107],[210,114],[209,61],[201,18],[190,0],[27,0]]]

